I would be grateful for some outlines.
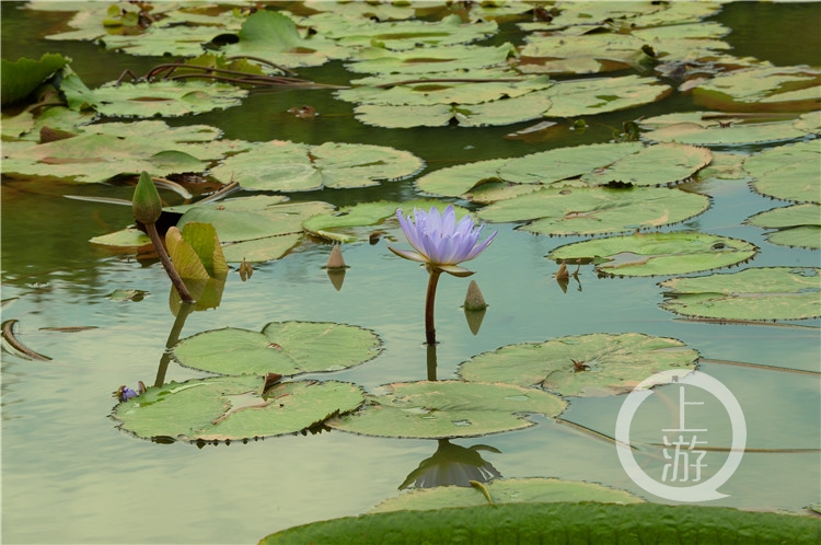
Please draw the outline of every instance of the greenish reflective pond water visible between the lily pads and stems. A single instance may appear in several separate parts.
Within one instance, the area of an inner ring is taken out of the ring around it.
[[[726,5],[716,20],[733,30],[726,40],[736,47],[736,55],[784,66],[819,65],[819,14],[817,3],[742,2]],[[3,2],[3,58],[60,51],[74,59],[74,71],[90,85],[109,81],[125,68],[144,72],[158,61],[103,51],[92,44],[42,39],[63,18]],[[300,74],[329,83],[348,78],[339,63]],[[307,102],[321,112],[314,123],[282,114]],[[502,138],[528,124],[476,130],[367,127],[352,119],[349,104],[334,101],[325,91],[254,92],[240,107],[171,123],[213,125],[227,138],[245,140],[393,146],[423,158],[429,172],[460,162],[605,141],[623,121],[687,109],[696,109],[689,97],[673,95],[650,106],[591,118],[583,136],[564,131],[556,141],[535,144]],[[694,189],[710,195],[713,207],[686,228],[756,244],[761,253],[752,263],[755,266],[819,266],[819,252],[774,246],[760,229],[742,224],[773,206],[745,183],[709,182]],[[128,199],[131,188],[3,179],[2,299],[18,299],[2,308],[2,318],[19,320],[19,337],[54,358],[39,362],[2,356],[3,543],[255,543],[279,529],[368,510],[395,496],[407,474],[436,451],[436,441],[335,431],[198,449],[155,444],[117,430],[108,418],[114,405],[111,392],[138,380],[153,382],[174,322],[167,304],[170,285],[159,264],[113,255],[88,243],[129,224],[130,208],[69,200],[66,194]],[[413,181],[402,181],[294,198],[346,205],[415,195]],[[589,268],[582,269],[580,287],[571,282],[565,293],[552,278],[555,264],[544,255],[578,239],[534,236],[512,225],[498,229],[496,242],[471,264],[476,271],[473,278],[490,304],[477,335],[471,333],[460,309],[467,281],[447,277],[440,282],[440,379],[452,376],[471,356],[500,346],[594,332],[675,337],[708,360],[820,370],[818,320],[793,324],[797,327],[681,321],[658,308],[661,294],[656,283],[661,279],[599,279]],[[226,326],[259,331],[273,321],[343,322],[375,331],[384,341],[384,353],[324,376],[368,389],[424,379],[427,276],[395,258],[384,241],[348,245],[344,251],[350,269],[342,290],[334,289],[322,269],[329,246],[305,243],[286,258],[259,266],[247,282],[230,275],[221,305],[193,313],[183,336]],[[114,302],[106,295],[115,289],[151,294],[140,302]],[[95,328],[42,329],[66,326]],[[747,418],[748,448],[811,450],[821,444],[818,375],[713,362],[702,369],[738,398]],[[200,374],[172,364],[166,380],[194,376]],[[563,416],[612,434],[622,401],[575,399]],[[660,428],[654,413],[663,414],[660,421],[667,424],[668,409],[663,404],[648,406],[639,419],[649,429]],[[505,477],[583,479],[644,494],[626,476],[612,443],[567,425],[532,420],[537,425],[525,430],[453,442],[501,451],[486,452],[484,457]],[[717,438],[729,433],[720,418],[710,427]],[[712,460],[721,463],[720,455]],[[733,478],[721,487],[729,497],[713,503],[799,511],[821,500],[820,482],[818,452],[748,452]]]

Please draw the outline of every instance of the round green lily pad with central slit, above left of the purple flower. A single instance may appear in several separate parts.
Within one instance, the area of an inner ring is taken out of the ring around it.
[[[309,192],[379,185],[421,166],[413,153],[383,146],[271,140],[224,160],[211,174],[224,183],[233,177],[245,189]]]

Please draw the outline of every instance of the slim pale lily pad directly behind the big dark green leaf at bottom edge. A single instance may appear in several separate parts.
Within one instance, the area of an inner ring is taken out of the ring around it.
[[[560,480],[557,478],[502,478],[486,483],[485,490],[493,503],[523,503],[553,501],[601,501],[604,503],[640,503],[644,500],[626,490],[594,483]],[[389,511],[427,511],[451,507],[484,506],[488,500],[482,490],[465,486],[438,486],[412,490],[389,498],[371,509],[371,513]]]

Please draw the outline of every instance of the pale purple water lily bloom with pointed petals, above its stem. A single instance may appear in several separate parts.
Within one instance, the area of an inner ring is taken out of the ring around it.
[[[389,250],[400,257],[424,263],[453,276],[472,275],[472,271],[459,267],[459,264],[479,255],[496,236],[494,232],[484,242],[478,242],[484,225],[475,225],[470,216],[456,222],[453,205],[449,205],[441,214],[436,207],[428,212],[415,208],[414,220],[409,216],[405,218],[402,209],[398,209],[396,219],[416,252],[388,246]]]

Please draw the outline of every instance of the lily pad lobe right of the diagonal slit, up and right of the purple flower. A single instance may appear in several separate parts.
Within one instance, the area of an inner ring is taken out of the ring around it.
[[[660,143],[620,159],[606,169],[585,174],[581,181],[590,185],[606,185],[611,182],[670,185],[692,177],[712,160],[713,154],[706,148]]]

